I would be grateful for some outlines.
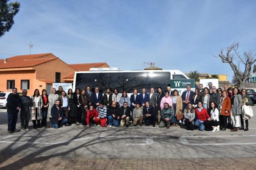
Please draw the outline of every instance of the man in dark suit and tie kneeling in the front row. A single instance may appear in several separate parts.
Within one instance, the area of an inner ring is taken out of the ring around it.
[[[149,104],[149,102],[147,101],[145,103],[145,106],[143,107],[143,112],[142,114],[144,115],[145,117],[145,125],[148,126],[148,125],[151,125],[153,124],[153,127],[156,126],[156,115],[154,113],[154,106],[151,106]]]

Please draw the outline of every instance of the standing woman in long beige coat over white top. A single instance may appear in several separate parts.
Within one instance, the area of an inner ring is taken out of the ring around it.
[[[178,113],[182,112],[182,98],[178,93],[178,90],[173,90],[172,92],[172,110],[174,112],[174,117],[173,117],[173,126],[178,126],[180,124],[180,121],[177,121],[176,116]]]

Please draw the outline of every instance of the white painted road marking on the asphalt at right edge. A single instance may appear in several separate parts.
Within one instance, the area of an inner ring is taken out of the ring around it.
[[[256,137],[256,135],[216,135],[216,136],[182,136],[179,137],[180,143],[183,145],[189,145],[189,146],[208,146],[208,145],[256,145],[256,142],[248,142],[248,143],[189,143],[187,138],[209,138],[209,137]]]

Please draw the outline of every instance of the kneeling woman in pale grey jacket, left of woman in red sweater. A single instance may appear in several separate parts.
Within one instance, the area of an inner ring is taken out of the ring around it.
[[[183,124],[186,126],[187,130],[194,130],[194,119],[196,118],[196,111],[192,106],[192,103],[188,103],[188,107],[184,109],[184,119]]]

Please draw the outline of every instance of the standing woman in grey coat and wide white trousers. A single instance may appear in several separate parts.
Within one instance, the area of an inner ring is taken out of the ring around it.
[[[231,120],[234,128],[231,130],[235,132],[240,127],[240,115],[242,114],[242,96],[240,94],[240,90],[235,87],[233,89],[233,96],[231,98]]]

